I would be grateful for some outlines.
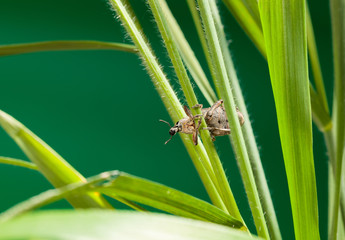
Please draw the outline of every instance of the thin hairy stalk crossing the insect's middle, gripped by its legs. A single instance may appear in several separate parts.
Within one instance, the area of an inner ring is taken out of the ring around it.
[[[173,39],[172,31],[170,30],[169,25],[164,17],[164,13],[162,12],[162,9],[160,7],[160,3],[158,2],[158,0],[149,0],[149,4],[152,10],[152,13],[155,17],[158,28],[162,34],[162,38],[165,42],[165,46],[167,48],[169,57],[174,66],[176,75],[180,81],[182,91],[184,92],[186,96],[187,103],[190,107],[192,107],[198,104],[198,102],[194,94],[192,85],[189,81],[187,71],[184,68],[182,59],[179,55],[177,45],[174,41],[170,40],[170,39]],[[201,114],[201,110],[199,108],[195,110],[192,109],[192,112],[194,112],[195,115]],[[201,128],[206,127],[206,123],[204,121],[205,120],[203,119]],[[236,205],[236,201],[232,194],[232,191],[229,187],[229,183],[227,181],[219,156],[211,140],[210,133],[208,131],[201,131],[201,138],[205,145],[206,152],[209,156],[212,169],[215,174],[214,184],[217,187],[218,192],[220,196],[222,197],[225,206],[227,207],[227,211],[231,215],[233,215],[235,218],[242,219],[240,212],[238,210],[238,207]]]

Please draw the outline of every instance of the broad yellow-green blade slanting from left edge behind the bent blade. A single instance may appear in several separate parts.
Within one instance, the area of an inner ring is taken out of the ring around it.
[[[61,187],[75,182],[85,182],[85,178],[68,164],[45,142],[27,129],[16,119],[0,110],[0,125],[13,138],[28,158],[36,164],[39,171],[54,187]],[[108,208],[109,204],[97,194],[87,194],[78,198],[67,199],[78,208]]]

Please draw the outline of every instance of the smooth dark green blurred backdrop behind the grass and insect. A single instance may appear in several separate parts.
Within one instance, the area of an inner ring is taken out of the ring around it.
[[[145,1],[131,2],[185,103]],[[206,69],[185,1],[168,3]],[[281,231],[284,239],[292,239],[291,208],[267,64],[223,4],[219,5]],[[328,1],[312,1],[310,9],[330,100],[333,73]],[[129,42],[105,0],[0,0],[0,32],[1,45],[47,40]],[[164,145],[169,127],[158,119],[171,120],[136,55],[65,51],[2,57],[0,79],[0,108],[46,141],[85,177],[119,169],[209,201],[179,137]],[[207,106],[200,93],[198,96]],[[321,134],[314,130],[321,237],[325,238],[327,155]],[[3,130],[0,143],[1,156],[27,159]],[[215,143],[241,212],[255,231],[229,139],[219,137]],[[19,167],[0,165],[0,175],[1,211],[52,187],[37,172]],[[61,201],[50,207],[69,205]]]

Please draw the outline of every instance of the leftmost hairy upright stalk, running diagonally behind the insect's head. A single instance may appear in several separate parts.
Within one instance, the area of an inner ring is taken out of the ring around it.
[[[110,0],[110,4],[116,10],[123,26],[138,48],[139,55],[143,59],[143,63],[151,76],[152,82],[173,122],[180,120],[185,116],[182,105],[151,50],[140,24],[136,21],[137,18],[134,17],[132,10],[129,8],[129,3],[121,0]],[[212,180],[214,173],[204,146],[201,143],[194,146],[192,137],[187,134],[181,134],[180,136],[212,202],[220,208],[223,208],[222,200]]]

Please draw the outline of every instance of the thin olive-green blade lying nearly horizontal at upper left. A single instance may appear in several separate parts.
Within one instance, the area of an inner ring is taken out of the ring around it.
[[[112,43],[91,40],[47,41],[0,46],[0,57],[33,52],[66,50],[117,50],[131,53],[137,52],[135,46],[123,43]]]

